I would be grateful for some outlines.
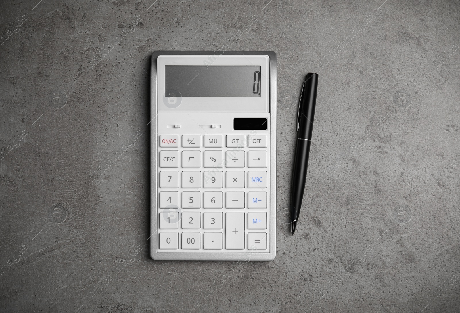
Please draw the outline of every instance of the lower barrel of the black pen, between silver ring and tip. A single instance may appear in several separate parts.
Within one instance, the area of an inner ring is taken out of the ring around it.
[[[308,155],[310,140],[297,139],[294,155],[294,168],[291,187],[291,220],[299,218],[300,207],[304,197],[305,181],[307,179]]]

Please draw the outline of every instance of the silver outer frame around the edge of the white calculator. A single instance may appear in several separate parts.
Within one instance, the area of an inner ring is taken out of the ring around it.
[[[162,54],[174,55],[268,55],[270,58],[270,249],[268,252],[158,252],[157,234],[157,58]],[[178,261],[271,261],[276,256],[276,53],[273,51],[155,51],[150,67],[150,257],[153,260]]]

